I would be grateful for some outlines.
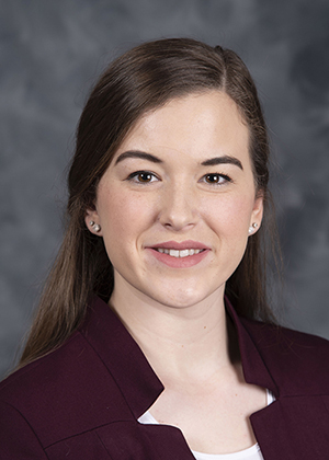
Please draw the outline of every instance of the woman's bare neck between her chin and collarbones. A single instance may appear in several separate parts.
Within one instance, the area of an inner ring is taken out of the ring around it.
[[[186,307],[168,307],[135,290],[114,289],[111,307],[138,343],[164,383],[172,379],[209,378],[231,367],[230,322],[224,287],[207,299]]]

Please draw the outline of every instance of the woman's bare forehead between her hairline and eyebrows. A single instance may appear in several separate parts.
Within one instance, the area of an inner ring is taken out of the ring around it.
[[[126,136],[116,156],[138,149],[157,150],[162,154],[180,152],[189,158],[208,158],[211,152],[239,152],[249,157],[248,147],[249,130],[237,104],[222,91],[208,91],[170,100],[164,106],[145,114]]]

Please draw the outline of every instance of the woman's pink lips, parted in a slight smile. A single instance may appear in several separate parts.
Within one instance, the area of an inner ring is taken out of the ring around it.
[[[164,254],[161,252],[158,252],[157,249],[158,248],[163,248],[163,249],[173,249],[177,251],[182,251],[185,249],[194,249],[194,250],[203,250],[202,252],[200,252],[198,254],[194,254],[194,255],[189,255],[188,257],[172,257],[169,254]],[[164,264],[171,268],[190,268],[193,267],[194,265],[197,265],[198,263],[201,263],[209,253],[211,249],[203,244],[203,243],[198,243],[197,241],[192,241],[192,240],[188,240],[188,241],[182,241],[182,242],[177,242],[177,241],[166,241],[163,243],[159,243],[159,244],[155,244],[152,246],[148,246],[146,248],[146,250],[161,264]]]

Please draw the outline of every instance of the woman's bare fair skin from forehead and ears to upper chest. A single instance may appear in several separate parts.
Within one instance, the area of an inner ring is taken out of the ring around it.
[[[90,231],[91,220],[101,226],[97,234],[114,267],[110,304],[166,388],[151,414],[208,453],[251,446],[248,417],[265,405],[264,390],[243,380],[224,308],[249,227],[262,219],[248,146],[227,94],[174,99],[136,124],[86,216]],[[191,266],[171,266],[154,249],[185,241],[205,249]]]

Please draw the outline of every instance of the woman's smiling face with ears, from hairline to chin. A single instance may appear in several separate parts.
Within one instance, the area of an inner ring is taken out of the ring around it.
[[[223,297],[262,218],[248,146],[219,91],[171,100],[137,123],[86,217],[101,226],[114,292],[181,308]]]

